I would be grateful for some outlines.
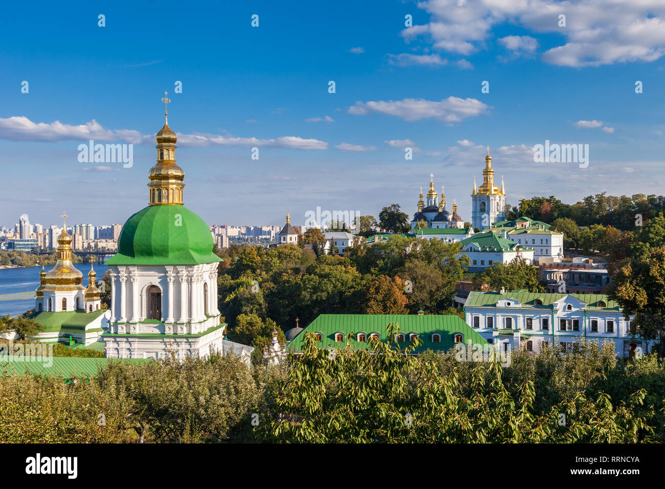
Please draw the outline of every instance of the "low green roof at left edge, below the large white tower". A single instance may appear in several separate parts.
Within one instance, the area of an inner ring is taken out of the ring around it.
[[[21,357],[23,358],[23,357]],[[65,379],[72,377],[94,377],[108,367],[111,362],[147,363],[151,359],[108,359],[108,358],[76,358],[76,357],[45,357],[53,361],[51,367],[44,365],[44,361],[6,360],[0,357],[0,375],[62,375]]]

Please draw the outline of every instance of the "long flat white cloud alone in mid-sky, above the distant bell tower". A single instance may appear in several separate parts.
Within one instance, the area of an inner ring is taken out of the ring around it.
[[[449,96],[436,102],[423,98],[404,98],[404,100],[384,100],[370,102],[356,102],[348,108],[349,114],[367,115],[378,112],[390,116],[398,116],[403,120],[437,118],[443,122],[460,122],[462,119],[477,116],[487,111],[489,107],[475,98],[459,98]]]

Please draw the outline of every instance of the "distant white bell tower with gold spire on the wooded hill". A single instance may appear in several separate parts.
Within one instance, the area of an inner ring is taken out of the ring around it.
[[[505,190],[503,188],[503,176],[501,177],[501,188],[494,183],[494,168],[492,168],[492,157],[485,156],[485,168],[483,168],[483,183],[476,190],[475,176],[473,177],[473,192],[471,192],[471,226],[482,231],[489,228],[495,222],[505,220]]]

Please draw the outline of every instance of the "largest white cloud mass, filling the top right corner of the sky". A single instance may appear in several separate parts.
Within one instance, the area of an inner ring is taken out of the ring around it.
[[[418,7],[430,22],[401,33],[406,42],[427,37],[435,49],[469,55],[485,49],[495,26],[511,23],[533,33],[564,38],[542,55],[543,61],[569,67],[649,62],[665,54],[665,2],[662,0],[429,0]],[[559,27],[559,14],[566,26]],[[507,38],[524,37],[508,36]],[[531,36],[527,36],[530,37]],[[520,53],[534,41],[501,38]]]

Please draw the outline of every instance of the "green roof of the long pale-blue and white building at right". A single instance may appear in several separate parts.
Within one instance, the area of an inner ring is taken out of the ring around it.
[[[616,301],[610,301],[604,294],[564,294],[564,293],[533,293],[533,292],[469,292],[464,307],[495,307],[497,301],[501,299],[513,299],[519,302],[523,307],[545,307],[552,309],[552,304],[572,295],[576,299],[587,303],[585,309],[588,310],[613,310],[618,311],[619,305]],[[542,305],[537,305],[536,301],[541,301]],[[606,307],[600,307],[599,301],[604,301]]]

